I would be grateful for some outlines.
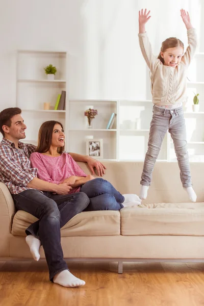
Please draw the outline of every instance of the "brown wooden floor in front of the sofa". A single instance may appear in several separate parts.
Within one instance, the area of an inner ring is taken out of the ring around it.
[[[1,306],[203,306],[204,264],[70,263],[84,281],[63,288],[48,281],[45,262],[0,262]]]

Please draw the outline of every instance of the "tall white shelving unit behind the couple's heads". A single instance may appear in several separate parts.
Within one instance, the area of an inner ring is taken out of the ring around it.
[[[55,80],[47,80],[43,67],[53,64],[57,68]],[[28,129],[26,143],[37,144],[42,122],[57,120],[66,130],[67,111],[54,110],[58,94],[67,92],[67,53],[50,50],[18,50],[16,75],[16,106],[21,108]],[[50,104],[44,110],[44,103]],[[66,104],[67,110],[67,104]]]

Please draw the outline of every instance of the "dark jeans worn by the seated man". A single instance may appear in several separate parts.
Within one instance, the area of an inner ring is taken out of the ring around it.
[[[40,239],[52,281],[57,273],[68,269],[63,259],[60,228],[87,208],[89,198],[83,192],[53,195],[35,189],[12,196],[16,210],[23,210],[39,219],[31,224],[25,233]]]

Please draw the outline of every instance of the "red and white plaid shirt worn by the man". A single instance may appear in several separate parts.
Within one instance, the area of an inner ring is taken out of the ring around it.
[[[18,194],[27,188],[34,177],[37,177],[37,169],[31,168],[29,157],[36,150],[33,144],[18,142],[17,149],[13,142],[3,138],[0,143],[0,181],[3,182],[11,194]]]

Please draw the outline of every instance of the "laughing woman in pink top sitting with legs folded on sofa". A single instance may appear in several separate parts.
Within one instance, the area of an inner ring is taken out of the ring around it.
[[[38,134],[38,146],[30,160],[38,168],[38,177],[55,184],[71,186],[70,193],[84,192],[90,199],[86,210],[120,210],[136,206],[141,200],[136,194],[120,194],[111,183],[86,175],[71,156],[64,151],[64,129],[58,121],[42,123]]]

